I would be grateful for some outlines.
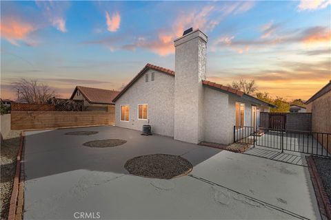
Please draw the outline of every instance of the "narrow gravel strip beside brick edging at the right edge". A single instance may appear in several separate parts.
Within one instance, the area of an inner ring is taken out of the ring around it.
[[[331,158],[312,157],[331,202]]]

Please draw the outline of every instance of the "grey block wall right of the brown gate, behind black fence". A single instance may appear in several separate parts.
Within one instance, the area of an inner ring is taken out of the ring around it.
[[[286,129],[296,131],[312,131],[311,113],[286,114]]]

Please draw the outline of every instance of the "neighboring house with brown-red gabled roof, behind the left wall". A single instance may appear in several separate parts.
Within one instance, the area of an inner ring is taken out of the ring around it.
[[[112,99],[118,94],[119,91],[77,86],[70,99],[84,100],[85,111],[111,111]]]

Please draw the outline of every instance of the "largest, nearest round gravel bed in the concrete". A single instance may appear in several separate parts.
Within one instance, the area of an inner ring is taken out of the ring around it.
[[[193,167],[187,159],[181,156],[151,154],[129,159],[124,168],[132,175],[171,179],[190,173]]]

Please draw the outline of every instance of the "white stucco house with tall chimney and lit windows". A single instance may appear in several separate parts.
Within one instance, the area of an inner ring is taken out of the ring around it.
[[[115,125],[141,130],[150,124],[153,133],[194,144],[230,144],[234,126],[259,126],[259,111],[274,106],[206,80],[207,41],[201,30],[176,39],[175,71],[143,67],[113,100]]]

